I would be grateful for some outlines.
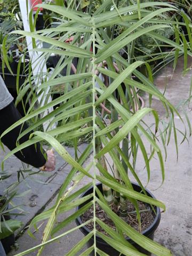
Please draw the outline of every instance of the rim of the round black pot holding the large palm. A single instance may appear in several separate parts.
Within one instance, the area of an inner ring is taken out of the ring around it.
[[[135,183],[135,182],[131,182],[131,183],[132,183],[133,185],[139,186],[138,183]],[[97,183],[96,186],[98,186],[98,185],[100,185],[100,184],[101,184],[101,183]],[[139,186],[139,187],[140,187],[140,186]],[[87,191],[91,190],[92,188],[93,188],[93,186],[91,186],[89,189],[87,189],[87,190],[81,195],[81,197],[83,197],[83,196],[85,195],[85,193],[87,193]],[[145,190],[146,190],[147,194],[150,195],[150,197],[156,199],[155,196],[154,196],[148,189],[145,189]],[[151,223],[151,225],[150,225],[147,229],[145,229],[144,231],[142,231],[142,233],[141,233],[142,235],[150,236],[150,234],[154,233],[154,231],[157,229],[157,227],[158,227],[158,225],[159,225],[159,222],[160,222],[160,220],[161,220],[161,211],[160,211],[160,209],[159,209],[158,206],[155,206],[155,207],[156,207],[156,216],[155,216],[155,219],[154,219],[153,223]],[[76,207],[76,211],[77,211],[77,210],[79,210],[79,206]],[[83,224],[83,222],[82,222],[82,220],[81,220],[81,217],[77,217],[77,219],[76,219],[75,221],[76,221],[76,224],[77,224],[78,226]],[[83,227],[81,227],[80,229],[81,229],[81,231],[82,231],[82,233],[83,233],[84,235],[87,235],[87,234],[91,233],[91,230],[90,230],[89,228],[87,228],[86,226],[83,226]],[[96,235],[96,237],[97,237],[97,239],[100,240],[100,242],[103,241],[99,236]],[[129,242],[135,243],[134,241],[132,241],[132,239],[131,239],[130,237],[126,238],[126,240],[129,241]],[[103,242],[104,242],[104,241],[103,241]],[[106,243],[106,242],[105,242],[105,243]]]

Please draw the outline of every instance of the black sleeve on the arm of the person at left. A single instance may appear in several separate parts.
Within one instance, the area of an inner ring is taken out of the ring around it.
[[[14,103],[11,102],[10,105],[0,110],[0,135],[9,128],[12,124],[21,119],[17,108],[15,108]],[[2,137],[2,142],[5,146],[7,146],[10,150],[16,147],[16,141],[21,131],[21,125],[15,127],[12,131],[5,134]],[[22,131],[28,128],[27,124],[23,125]],[[23,143],[29,139],[30,133],[23,136],[19,143]],[[21,153],[22,151],[22,153]],[[44,153],[42,153],[40,149],[40,144],[36,143],[36,147],[34,145],[28,146],[21,151],[18,151],[14,155],[19,158],[22,162],[33,165],[34,167],[41,167],[45,164],[46,159],[44,157]]]

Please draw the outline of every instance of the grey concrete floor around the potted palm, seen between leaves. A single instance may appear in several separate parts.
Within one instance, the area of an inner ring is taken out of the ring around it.
[[[156,86],[162,92],[164,91],[164,86],[166,83],[167,89],[165,96],[173,103],[173,105],[177,105],[181,100],[187,99],[189,94],[189,84],[192,73],[190,70],[189,73],[185,77],[183,77],[182,66],[183,58],[180,58],[179,65],[175,70],[173,76],[172,67],[171,65],[169,65],[166,70],[161,71],[161,73],[155,79]],[[145,99],[145,101],[147,105],[147,98]],[[154,108],[158,109],[159,116],[163,117],[164,111],[161,102],[159,102],[157,99],[154,99],[153,106]],[[192,120],[191,109],[192,108],[190,106],[186,107],[190,122]],[[181,110],[180,114],[183,119],[185,119],[185,116],[182,114]],[[147,116],[145,118],[145,121],[147,123],[151,123],[154,122],[154,119],[152,116]],[[183,131],[183,124],[177,116],[175,116],[174,121],[178,129]],[[181,138],[182,135],[178,133],[178,142],[181,142]],[[145,146],[149,148],[147,142],[145,143]],[[83,148],[85,147],[86,145],[82,145],[80,147],[80,150],[83,150]],[[71,155],[73,155],[73,149],[69,150],[71,150],[70,153]],[[165,182],[160,188],[158,187],[161,185],[161,172],[159,171],[159,164],[157,159],[152,159],[150,165],[151,179],[147,188],[152,191],[157,199],[164,202],[166,205],[166,212],[162,213],[160,225],[155,233],[155,241],[169,248],[175,256],[192,255],[191,152],[191,140],[189,141],[189,143],[187,141],[183,142],[179,146],[179,158],[177,162],[177,156],[174,146],[174,136],[173,134],[171,135],[170,144],[167,148],[168,157],[165,163]],[[90,161],[90,159],[87,161],[87,163]],[[7,170],[14,170],[15,166],[18,168],[19,162],[17,162],[16,158],[12,157],[9,161],[7,161],[5,168],[7,168]],[[146,170],[143,169],[143,166],[144,164],[142,161],[142,156],[138,156],[138,164],[136,166],[136,169],[140,179],[145,184]],[[46,184],[44,185],[42,183],[40,185],[37,185],[39,183],[36,183],[35,181],[29,181],[31,187],[30,193],[24,198],[18,198],[17,201],[18,204],[24,203],[26,207],[25,210],[29,211],[27,215],[22,217],[22,221],[25,223],[25,225],[27,225],[27,223],[38,211],[42,211],[44,208],[49,209],[54,204],[54,196],[55,194],[57,194],[57,191],[69,170],[69,166],[64,163],[59,156],[57,156],[57,170],[51,174],[51,177],[37,177],[37,179],[41,178],[41,180],[49,182],[46,182]],[[13,178],[17,179],[16,174]],[[84,179],[83,183],[86,182],[86,179]],[[7,186],[7,184],[5,184],[5,186]],[[20,189],[25,190],[26,188],[24,188],[24,186],[21,186]],[[34,207],[30,207],[30,198],[33,195],[37,195],[38,197],[36,197],[35,199],[36,202]],[[41,197],[39,195],[41,195]],[[73,211],[59,215],[58,221],[65,219],[71,214],[71,212]],[[63,229],[61,233],[75,226],[75,222],[72,222],[67,228]],[[15,255],[19,252],[29,249],[32,246],[39,244],[41,241],[44,227],[45,223],[43,223],[39,232],[34,234],[37,238],[36,240],[29,237],[27,231],[23,230],[22,235],[20,235],[17,239],[19,249],[17,251],[12,250],[12,252],[9,253],[9,256]],[[51,245],[47,245],[42,255],[66,255],[67,252],[82,238],[83,235],[81,231],[74,231],[73,233],[70,233],[67,236],[61,238],[60,241],[52,243]],[[28,255],[36,255],[36,252],[29,253]]]

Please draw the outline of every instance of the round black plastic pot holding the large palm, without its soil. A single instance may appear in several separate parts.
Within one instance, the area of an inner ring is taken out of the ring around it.
[[[141,188],[138,184],[136,183],[132,183],[133,185],[133,189],[137,192],[141,192]],[[97,187],[99,188],[99,190],[102,192],[102,184],[99,183],[97,185]],[[82,194],[81,197],[84,197],[84,196],[87,196],[89,194],[91,194],[93,192],[93,187],[87,189],[85,191],[84,194]],[[146,193],[148,196],[150,197],[154,197],[153,194],[150,193],[150,191],[148,189],[146,189]],[[91,199],[89,199],[87,202],[91,201]],[[79,205],[77,207],[77,210],[81,209],[81,207],[83,207],[85,204],[87,204],[87,202]],[[161,219],[161,211],[159,209],[159,207],[154,207],[155,211],[156,211],[156,216],[154,217],[154,222],[145,230],[142,232],[142,234],[148,238],[150,238],[151,240],[154,239],[154,234],[155,234],[155,230],[157,229],[158,225],[159,225],[159,222],[160,222],[160,219]],[[81,217],[78,217],[76,219],[76,224],[79,226],[81,225],[83,222],[82,222],[82,219]],[[82,231],[82,233],[84,235],[87,235],[91,232],[91,230],[89,228],[87,228],[86,226],[84,227],[81,227],[80,230]],[[136,244],[135,242],[133,242],[129,237],[126,238],[128,242],[130,242],[135,248],[137,248],[139,250],[139,252],[141,253],[145,253],[146,255],[151,255],[150,252],[146,251],[145,249],[143,249],[141,246],[139,246],[138,244]],[[119,255],[119,252],[117,250],[115,250],[112,246],[110,246],[109,244],[107,244],[105,241],[103,241],[103,239],[101,239],[99,236],[97,236],[96,238],[96,241],[97,241],[97,247],[98,249],[100,249],[101,251],[103,252],[106,252],[108,255],[111,255],[111,256],[118,256]],[[89,242],[87,242],[87,246],[88,247],[91,247],[93,245],[93,237],[89,240]],[[94,255],[93,254],[90,254],[90,255]],[[123,255],[122,255],[123,256]]]

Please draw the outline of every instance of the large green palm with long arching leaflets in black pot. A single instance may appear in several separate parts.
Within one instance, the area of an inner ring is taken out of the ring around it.
[[[79,5],[76,1],[73,5],[70,1],[65,2],[66,6],[37,5],[61,15],[61,23],[57,28],[37,32],[14,31],[16,34],[31,36],[51,45],[50,49],[39,49],[34,44],[34,51],[42,52],[39,61],[46,60],[52,53],[60,55],[61,59],[52,74],[46,76],[38,88],[31,89],[33,98],[27,115],[2,134],[3,137],[15,126],[29,120],[31,122],[30,127],[23,131],[18,139],[35,130],[29,140],[7,154],[4,161],[16,151],[37,141],[46,140],[72,166],[67,179],[60,188],[55,204],[51,209],[39,214],[31,221],[30,226],[35,225],[37,227],[37,222],[47,219],[41,243],[18,255],[25,255],[37,249],[39,249],[37,255],[41,255],[46,244],[79,228],[86,230],[86,232],[83,231],[85,237],[67,255],[76,255],[89,241],[91,241],[90,247],[81,255],[90,255],[90,253],[116,255],[117,251],[118,254],[124,255],[146,255],[149,253],[159,256],[172,255],[170,250],[157,244],[141,232],[141,213],[150,211],[158,225],[159,208],[165,211],[165,205],[151,196],[135,172],[138,151],[141,151],[145,162],[148,181],[150,180],[150,160],[154,156],[158,158],[163,181],[165,170],[158,140],[159,136],[162,135],[161,130],[159,130],[159,116],[156,109],[141,108],[137,95],[138,89],[149,94],[149,102],[153,97],[162,102],[167,118],[163,135],[167,134],[168,138],[165,141],[169,142],[170,133],[173,130],[176,147],[177,132],[174,125],[174,115],[176,114],[181,121],[182,118],[177,108],[153,84],[153,76],[148,63],[134,60],[132,53],[134,52],[135,39],[147,34],[154,39],[154,44],[158,40],[158,42],[166,43],[172,47],[171,52],[161,53],[164,59],[167,58],[167,55],[169,57],[172,55],[175,58],[174,65],[176,65],[179,54],[184,53],[185,61],[187,61],[187,55],[191,56],[192,53],[190,45],[186,43],[185,36],[180,34],[179,25],[185,25],[191,30],[190,21],[186,18],[186,23],[178,23],[171,18],[169,19],[169,15],[165,15],[166,19],[164,20],[164,13],[179,12],[177,7],[166,2],[140,3],[137,1],[134,4],[134,1],[127,1],[125,4],[125,1],[99,1],[95,7],[94,1],[90,1],[90,3],[86,3],[86,13],[78,9]],[[123,28],[122,33],[114,38],[117,27]],[[157,33],[158,30],[165,28],[174,30],[175,41]],[[59,36],[55,38],[56,35]],[[73,41],[65,43],[70,36],[74,36]],[[130,58],[127,60],[120,54],[121,49],[125,46],[129,50],[127,54]],[[76,74],[70,74],[73,58],[78,58]],[[6,55],[4,61],[9,67]],[[115,70],[114,62],[118,72]],[[107,67],[104,63],[107,63]],[[146,65],[148,77],[138,71],[142,65]],[[67,67],[67,73],[66,76],[62,76],[60,72],[65,67]],[[107,82],[100,74],[108,77]],[[33,75],[29,76],[26,86],[31,79],[36,79]],[[137,77],[137,81],[133,80],[132,76]],[[42,77],[41,73],[39,73],[39,77]],[[46,97],[47,88],[52,93],[54,86],[61,84],[64,86],[63,95],[42,107],[33,108],[39,94]],[[124,85],[124,89],[122,85]],[[23,97],[25,90],[25,87],[21,87],[19,99]],[[102,114],[103,102],[106,102],[110,108],[110,115],[108,114],[107,117]],[[59,107],[51,113],[39,118],[39,114],[44,113],[47,108],[58,104],[60,104]],[[155,125],[153,127],[146,124],[143,119],[149,113],[154,116]],[[39,131],[39,127],[47,121],[50,121],[50,127],[54,122],[60,122],[55,129]],[[170,132],[167,133],[167,130]],[[92,132],[92,141],[78,157],[78,138],[90,132]],[[74,142],[74,158],[69,155],[65,146],[62,146],[62,143],[69,139]],[[143,143],[144,139],[150,144],[149,152]],[[165,141],[164,146],[166,146]],[[90,164],[84,167],[83,163],[91,153]],[[106,163],[107,154],[110,155],[112,163]],[[138,185],[131,182],[131,175]],[[80,189],[76,190],[77,185],[85,177],[90,178],[90,180],[86,185],[82,185]],[[98,186],[98,181],[102,185]],[[92,188],[87,193],[90,186]],[[84,196],[79,197],[82,193],[85,193]],[[145,205],[144,209],[139,206],[141,202],[142,205]],[[58,214],[77,206],[79,207],[75,213],[57,223]],[[113,222],[114,226],[107,225],[105,220],[99,218],[97,215],[98,207],[99,211],[106,213],[107,223]],[[129,207],[135,214],[138,231],[127,223],[130,213]],[[86,219],[86,212],[90,208],[92,214],[90,218]],[[78,223],[76,228],[55,236],[59,230],[75,219]],[[149,237],[153,238],[151,232],[149,233]],[[34,236],[30,229],[29,234]],[[54,237],[50,239],[50,236]],[[105,241],[115,251],[109,254],[105,251],[106,246],[99,247],[98,241],[101,244]]]

